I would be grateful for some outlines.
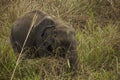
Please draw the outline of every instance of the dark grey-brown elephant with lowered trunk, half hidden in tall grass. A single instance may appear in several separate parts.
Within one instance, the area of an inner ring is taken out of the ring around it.
[[[11,44],[15,53],[20,53],[34,15],[37,20],[24,47],[27,58],[60,56],[69,59],[72,69],[77,68],[75,31],[61,20],[41,11],[32,11],[17,19],[11,29]]]

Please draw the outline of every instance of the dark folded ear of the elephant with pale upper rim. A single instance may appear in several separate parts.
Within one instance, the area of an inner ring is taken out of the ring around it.
[[[47,29],[55,28],[55,21],[50,16],[44,17],[37,26],[38,32],[41,35],[41,37],[44,35]]]

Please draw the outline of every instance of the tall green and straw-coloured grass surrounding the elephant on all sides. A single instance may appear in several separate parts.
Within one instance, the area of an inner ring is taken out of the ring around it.
[[[75,80],[120,79],[119,0],[1,0],[0,80],[9,80],[17,58],[9,41],[12,23],[39,9],[69,22],[76,29],[79,73]],[[13,80],[70,80],[64,59],[54,57],[22,60]]]

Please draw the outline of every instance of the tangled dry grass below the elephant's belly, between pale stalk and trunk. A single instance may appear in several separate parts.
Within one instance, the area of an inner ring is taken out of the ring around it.
[[[14,79],[57,79],[70,78],[68,66],[64,59],[46,57],[21,61],[18,65]]]

